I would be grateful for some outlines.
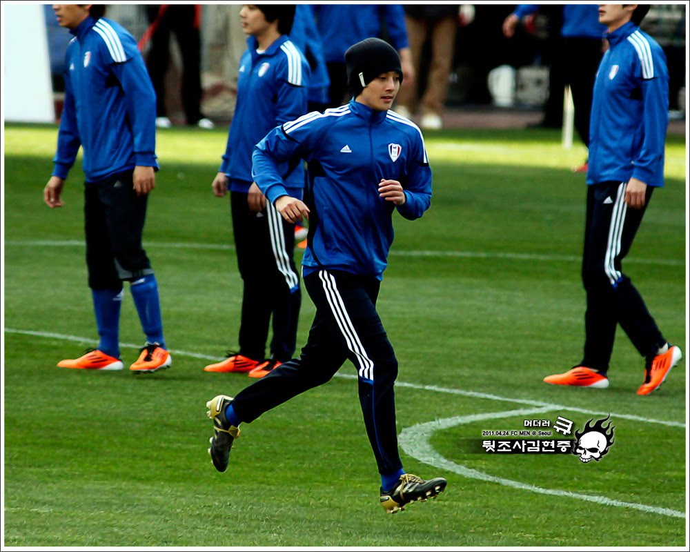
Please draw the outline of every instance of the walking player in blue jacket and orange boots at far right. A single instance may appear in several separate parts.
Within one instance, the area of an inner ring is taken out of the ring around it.
[[[544,378],[556,385],[607,388],[616,326],[646,359],[638,395],[649,395],[681,359],[622,272],[655,188],[664,186],[669,73],[661,47],[640,30],[649,5],[601,4],[609,50],[594,86],[582,259],[586,290],[582,362]]]

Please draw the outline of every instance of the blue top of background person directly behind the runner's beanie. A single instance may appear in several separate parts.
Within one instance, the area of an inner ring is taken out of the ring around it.
[[[313,9],[328,63],[345,63],[350,46],[380,37],[382,21],[396,50],[409,46],[405,12],[397,4],[315,4]]]

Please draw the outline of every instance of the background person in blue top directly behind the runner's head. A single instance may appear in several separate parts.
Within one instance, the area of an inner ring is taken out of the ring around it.
[[[364,39],[380,38],[391,43],[400,54],[405,75],[401,91],[415,85],[415,70],[402,6],[317,4],[313,6],[313,10],[324,47],[328,77],[331,79],[328,107],[342,106],[350,99],[347,90],[345,50]]]

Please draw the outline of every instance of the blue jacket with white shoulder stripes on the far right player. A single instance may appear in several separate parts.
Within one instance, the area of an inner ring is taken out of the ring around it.
[[[669,125],[669,72],[658,43],[634,23],[607,35],[594,82],[587,184],[627,182],[664,186]]]

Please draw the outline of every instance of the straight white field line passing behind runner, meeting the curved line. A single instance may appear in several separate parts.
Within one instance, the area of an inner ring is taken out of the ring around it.
[[[93,339],[91,337],[79,337],[77,335],[64,335],[61,333],[50,333],[50,332],[40,332],[40,331],[30,331],[30,330],[18,330],[15,328],[5,328],[5,333],[16,333],[16,334],[21,334],[21,335],[33,335],[35,337],[48,337],[52,339],[60,339],[61,341],[71,341],[71,342],[77,342],[77,343],[83,343],[83,344],[95,344],[97,342],[97,339]],[[124,348],[141,348],[141,345],[133,344],[133,343],[121,343],[121,347]],[[201,353],[190,353],[189,351],[181,351],[180,349],[169,349],[171,355],[179,355],[181,357],[191,357],[191,358],[198,358],[202,360],[212,360],[212,361],[218,361],[221,360],[218,357],[210,356],[210,355],[202,355]],[[335,375],[336,377],[342,377],[347,380],[356,380],[357,375],[355,374],[342,374],[342,373],[337,373]],[[646,418],[642,416],[637,416],[633,414],[619,414],[619,413],[613,413],[613,412],[600,412],[600,411],[591,411],[591,410],[586,410],[586,408],[578,408],[577,406],[565,406],[563,404],[555,404],[555,403],[550,403],[550,402],[540,402],[540,401],[533,401],[533,400],[527,400],[527,399],[516,399],[512,397],[501,397],[500,395],[491,395],[489,393],[479,393],[477,391],[464,391],[462,389],[453,389],[449,387],[439,387],[435,385],[421,385],[421,384],[411,384],[407,382],[400,382],[396,381],[395,386],[397,388],[408,388],[408,389],[416,389],[418,391],[431,391],[433,393],[447,393],[449,395],[462,395],[464,397],[473,397],[475,399],[484,399],[484,400],[490,400],[490,401],[498,401],[498,402],[511,402],[515,404],[524,404],[526,406],[535,406],[537,408],[548,408],[550,411],[570,411],[570,412],[579,412],[582,414],[586,415],[591,415],[591,416],[600,416],[600,415],[611,415],[612,418],[622,418],[623,420],[633,420],[635,422],[644,422],[646,424],[660,424],[662,426],[671,426],[671,427],[679,427],[679,428],[684,428],[685,424],[683,422],[673,422],[670,420],[654,420],[653,418]]]

